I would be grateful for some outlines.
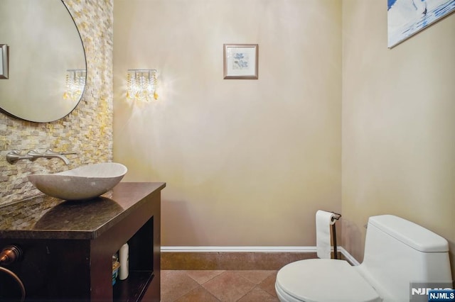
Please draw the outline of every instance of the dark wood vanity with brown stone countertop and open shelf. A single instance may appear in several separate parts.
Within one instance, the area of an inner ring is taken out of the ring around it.
[[[0,208],[0,249],[23,250],[7,268],[23,281],[26,301],[159,301],[165,186],[121,182],[90,201],[40,196]],[[112,286],[112,255],[125,242],[129,276]]]

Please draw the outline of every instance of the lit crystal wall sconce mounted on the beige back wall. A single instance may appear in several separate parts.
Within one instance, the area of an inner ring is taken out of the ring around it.
[[[127,98],[139,101],[158,99],[156,69],[128,69]]]

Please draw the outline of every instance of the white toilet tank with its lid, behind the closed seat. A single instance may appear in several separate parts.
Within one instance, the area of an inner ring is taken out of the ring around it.
[[[368,219],[360,274],[383,301],[410,301],[410,284],[451,284],[449,244],[443,237],[403,218]]]

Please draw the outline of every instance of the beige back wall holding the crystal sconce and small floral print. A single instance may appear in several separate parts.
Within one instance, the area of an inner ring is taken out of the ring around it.
[[[341,1],[114,1],[114,160],[166,181],[163,245],[315,245],[341,210]],[[223,43],[259,79],[223,79]],[[160,99],[125,99],[156,68]]]

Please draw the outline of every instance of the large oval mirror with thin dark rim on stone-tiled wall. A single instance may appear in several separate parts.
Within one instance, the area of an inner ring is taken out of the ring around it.
[[[32,122],[67,116],[85,89],[87,63],[79,31],[63,1],[1,0],[0,45],[8,75],[0,108]]]

